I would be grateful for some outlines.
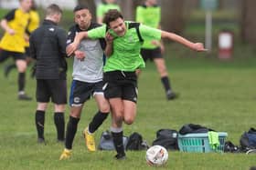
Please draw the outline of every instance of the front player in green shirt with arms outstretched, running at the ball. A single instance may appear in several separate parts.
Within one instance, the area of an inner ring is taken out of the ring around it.
[[[78,33],[74,42],[68,46],[67,54],[71,55],[83,38],[106,38],[105,55],[108,59],[104,66],[103,90],[112,110],[111,131],[117,151],[115,157],[124,159],[123,122],[132,125],[136,116],[138,89],[135,71],[144,67],[144,60],[140,55],[142,39],[167,38],[196,51],[206,51],[206,49],[201,43],[192,43],[179,35],[124,21],[123,15],[115,9],[106,13],[103,22],[106,25]]]

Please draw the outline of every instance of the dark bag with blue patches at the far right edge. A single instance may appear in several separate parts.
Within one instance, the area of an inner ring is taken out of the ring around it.
[[[244,132],[240,136],[240,147],[244,152],[256,149],[256,130],[254,128],[251,127],[248,132]]]

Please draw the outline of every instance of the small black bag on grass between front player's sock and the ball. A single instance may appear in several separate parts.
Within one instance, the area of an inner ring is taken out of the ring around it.
[[[126,150],[144,150],[147,149],[149,146],[143,140],[143,136],[139,133],[134,132],[132,135],[128,137],[128,142],[126,145]]]

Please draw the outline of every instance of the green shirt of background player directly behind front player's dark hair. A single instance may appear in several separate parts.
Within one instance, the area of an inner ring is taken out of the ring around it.
[[[97,6],[96,15],[97,15],[97,22],[102,23],[104,15],[110,10],[110,9],[117,9],[120,10],[120,6],[116,4],[116,0],[102,0],[102,3]]]

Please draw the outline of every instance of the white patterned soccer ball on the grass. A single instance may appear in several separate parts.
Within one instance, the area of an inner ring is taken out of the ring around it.
[[[148,165],[165,165],[168,160],[168,152],[162,145],[153,145],[147,149],[145,160]]]

